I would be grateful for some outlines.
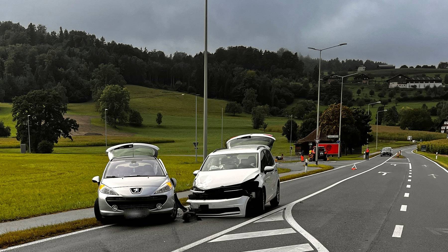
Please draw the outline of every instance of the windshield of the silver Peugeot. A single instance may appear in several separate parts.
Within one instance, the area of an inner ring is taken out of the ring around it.
[[[112,160],[109,162],[104,178],[139,176],[165,176],[156,159]]]

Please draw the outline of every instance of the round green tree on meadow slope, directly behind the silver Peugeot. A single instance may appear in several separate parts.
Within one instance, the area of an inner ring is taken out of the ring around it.
[[[120,85],[108,85],[99,97],[96,107],[101,118],[105,120],[105,109],[107,111],[107,122],[116,128],[116,125],[125,124],[128,121],[130,94],[127,88]]]

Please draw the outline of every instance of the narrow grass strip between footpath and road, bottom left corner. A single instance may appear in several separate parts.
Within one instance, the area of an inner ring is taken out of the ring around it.
[[[72,222],[8,232],[0,235],[0,249],[95,226],[101,226],[101,223],[95,218],[86,218]]]

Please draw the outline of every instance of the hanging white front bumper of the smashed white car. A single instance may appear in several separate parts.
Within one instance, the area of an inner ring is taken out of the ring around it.
[[[220,200],[187,200],[190,211],[201,217],[244,217],[249,196]]]

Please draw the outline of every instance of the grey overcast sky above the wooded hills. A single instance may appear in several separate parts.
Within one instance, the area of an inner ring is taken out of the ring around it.
[[[48,31],[84,30],[107,41],[196,54],[204,50],[204,0],[0,0],[0,20]],[[208,51],[280,47],[324,59],[395,64],[448,61],[445,0],[209,0]]]

